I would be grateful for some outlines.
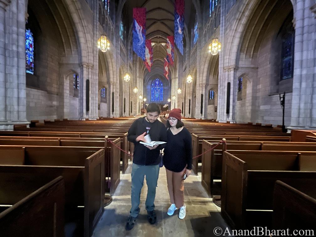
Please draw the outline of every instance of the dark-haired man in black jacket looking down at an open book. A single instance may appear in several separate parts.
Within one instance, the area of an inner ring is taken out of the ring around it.
[[[165,144],[156,145],[154,147],[140,144],[140,141],[145,142],[144,136],[150,135],[152,141],[167,142],[167,130],[163,123],[158,119],[160,107],[156,103],[150,103],[147,106],[146,117],[139,118],[134,121],[128,130],[127,140],[134,143],[134,155],[132,165],[132,190],[131,203],[132,208],[130,217],[126,223],[126,230],[131,230],[135,226],[135,222],[139,213],[140,194],[146,176],[148,187],[146,198],[147,219],[150,224],[155,224],[155,196],[156,186],[159,175],[159,154],[160,149],[165,147]]]

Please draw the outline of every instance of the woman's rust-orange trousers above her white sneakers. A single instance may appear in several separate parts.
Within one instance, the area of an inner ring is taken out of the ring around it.
[[[173,172],[166,169],[167,186],[171,204],[175,204],[177,208],[184,206],[184,185],[183,175],[185,168],[181,172]]]

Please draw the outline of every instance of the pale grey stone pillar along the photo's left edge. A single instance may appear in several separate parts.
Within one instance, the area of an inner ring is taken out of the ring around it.
[[[11,4],[12,2],[12,4]],[[24,1],[0,0],[0,129],[26,120]]]

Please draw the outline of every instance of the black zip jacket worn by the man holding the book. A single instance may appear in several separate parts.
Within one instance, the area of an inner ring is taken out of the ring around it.
[[[135,144],[133,163],[137,165],[158,165],[160,149],[163,149],[166,144],[161,144],[154,150],[148,149],[143,144],[136,142],[136,138],[144,132],[147,132],[144,117],[135,120],[128,130],[127,140]],[[167,142],[167,129],[158,119],[152,123],[149,135],[152,141]]]

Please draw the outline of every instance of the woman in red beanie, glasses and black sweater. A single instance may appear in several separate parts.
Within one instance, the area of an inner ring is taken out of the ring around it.
[[[164,149],[163,163],[166,167],[167,185],[171,206],[168,215],[179,209],[179,218],[185,218],[184,175],[188,177],[192,168],[192,140],[190,132],[181,121],[181,110],[173,109],[167,120],[167,146]]]

